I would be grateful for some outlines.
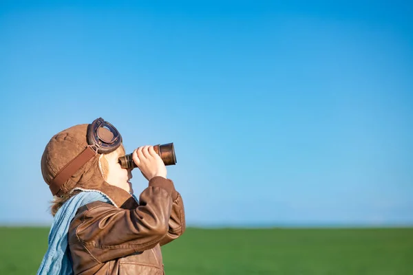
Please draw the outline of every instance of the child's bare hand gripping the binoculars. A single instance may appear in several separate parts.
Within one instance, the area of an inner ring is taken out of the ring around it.
[[[140,146],[132,153],[132,159],[147,180],[153,177],[167,178],[167,168],[160,156],[153,150],[153,146]]]

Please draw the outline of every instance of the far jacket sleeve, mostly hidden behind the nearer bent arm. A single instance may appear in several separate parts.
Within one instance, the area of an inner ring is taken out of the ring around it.
[[[160,245],[166,245],[174,239],[177,239],[185,231],[185,212],[184,202],[178,192],[172,192],[173,199],[171,217],[169,217],[168,232],[166,236],[160,240]]]

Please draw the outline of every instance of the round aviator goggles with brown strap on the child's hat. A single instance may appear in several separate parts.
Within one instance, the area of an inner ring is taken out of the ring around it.
[[[108,154],[115,151],[122,143],[119,131],[110,124],[97,118],[87,126],[87,146],[56,174],[49,188],[53,195],[61,195],[61,186],[76,173],[86,162],[97,154]]]

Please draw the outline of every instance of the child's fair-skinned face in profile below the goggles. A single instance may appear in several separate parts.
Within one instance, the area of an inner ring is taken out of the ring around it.
[[[109,155],[105,155],[107,162],[109,164],[109,171],[107,173],[107,183],[118,186],[123,190],[133,194],[132,184],[129,181],[132,178],[132,173],[130,169],[124,169],[120,166],[118,158],[120,157],[119,152],[115,151]]]

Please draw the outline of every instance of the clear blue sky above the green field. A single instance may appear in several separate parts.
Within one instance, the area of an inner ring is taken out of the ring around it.
[[[1,224],[51,223],[43,149],[102,117],[174,142],[189,225],[413,225],[412,1],[133,2],[0,2]]]

